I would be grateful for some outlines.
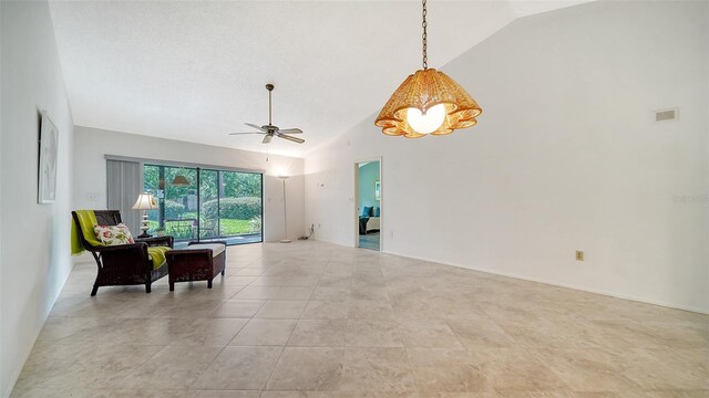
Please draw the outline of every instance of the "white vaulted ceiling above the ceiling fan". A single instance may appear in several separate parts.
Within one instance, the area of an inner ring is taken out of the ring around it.
[[[515,18],[579,2],[430,0],[429,66]],[[227,133],[267,123],[274,83],[274,124],[302,128],[306,144],[274,139],[269,150],[302,156],[421,67],[418,1],[53,1],[51,11],[74,123],[89,127],[266,151],[260,136]]]

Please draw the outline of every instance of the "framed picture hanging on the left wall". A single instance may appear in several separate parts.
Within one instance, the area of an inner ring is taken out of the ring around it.
[[[40,165],[38,176],[38,199],[40,205],[56,200],[56,156],[59,132],[47,112],[42,112],[40,122]]]

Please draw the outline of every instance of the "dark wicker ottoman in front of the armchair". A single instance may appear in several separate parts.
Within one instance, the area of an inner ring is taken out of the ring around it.
[[[212,280],[226,266],[226,242],[189,242],[187,249],[175,249],[165,253],[169,291],[175,290],[175,282],[207,281],[212,289]]]

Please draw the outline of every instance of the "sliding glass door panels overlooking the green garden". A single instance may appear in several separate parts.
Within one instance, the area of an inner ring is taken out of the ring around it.
[[[144,180],[158,199],[147,212],[151,233],[164,231],[181,242],[263,241],[261,174],[146,164]]]

